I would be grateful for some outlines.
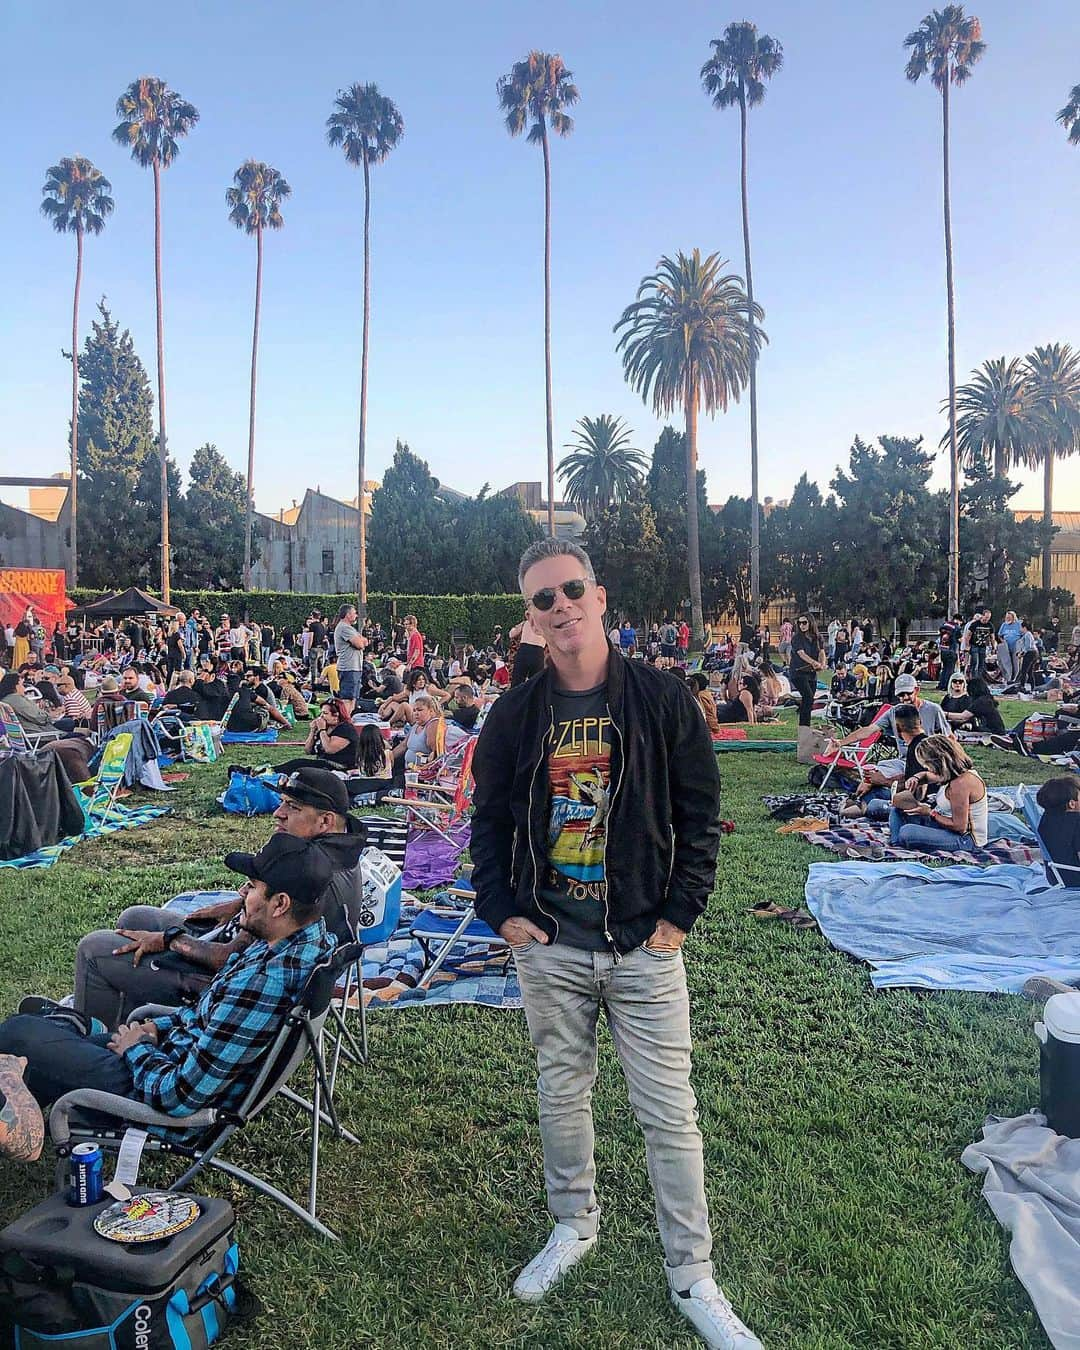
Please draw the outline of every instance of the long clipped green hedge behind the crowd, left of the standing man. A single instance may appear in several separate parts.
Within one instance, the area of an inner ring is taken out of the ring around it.
[[[70,598],[77,605],[97,599],[101,591],[76,587]],[[153,591],[150,594],[154,594]],[[198,609],[211,622],[224,614],[246,614],[255,622],[269,622],[281,629],[289,624],[300,630],[308,614],[319,609],[333,616],[339,605],[355,602],[355,595],[301,595],[289,591],[173,591],[173,603],[185,613]],[[394,609],[396,608],[396,609]],[[416,614],[420,632],[429,643],[443,648],[450,644],[454,629],[466,633],[466,641],[489,643],[495,624],[509,632],[524,614],[520,595],[383,595],[367,597],[371,618],[389,628],[392,614],[398,618]]]

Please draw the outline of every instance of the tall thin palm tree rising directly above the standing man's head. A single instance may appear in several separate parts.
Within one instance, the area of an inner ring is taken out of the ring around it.
[[[551,147],[548,127],[559,136],[568,136],[574,119],[566,112],[578,101],[574,76],[563,58],[548,51],[531,51],[516,61],[508,76],[501,76],[495,92],[506,113],[506,130],[520,136],[529,128],[528,140],[544,151],[544,396],[547,405],[548,443],[548,535],[555,536],[555,437],[551,412]]]

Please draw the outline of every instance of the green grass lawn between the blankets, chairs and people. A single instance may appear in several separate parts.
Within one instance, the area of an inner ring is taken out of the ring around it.
[[[1006,722],[1035,705],[1006,707]],[[786,714],[790,718],[790,714]],[[791,737],[786,724],[770,734]],[[230,748],[236,751],[235,747]],[[252,747],[238,761],[296,751]],[[992,783],[1041,780],[1033,760],[977,751]],[[1034,1010],[1019,998],[875,994],[865,968],[814,932],[761,923],[761,898],[799,905],[807,864],[760,796],[806,770],[782,753],[721,757],[725,837],[709,913],[687,944],[695,1087],[718,1278],[767,1347],[1018,1350],[1049,1342],[1011,1274],[1007,1239],[960,1153],[988,1112],[1038,1100]],[[197,767],[173,814],[78,845],[51,871],[0,872],[0,1014],[70,990],[88,929],[134,902],[230,884],[220,859],[265,819],[225,817],[223,765]],[[698,1342],[670,1307],[644,1149],[610,1038],[594,1098],[601,1242],[547,1303],[509,1295],[544,1242],[536,1069],[524,1017],[479,1008],[375,1011],[373,1056],[339,1084],[360,1148],[328,1139],[321,1200],[338,1246],[269,1202],[230,1193],[242,1266],[265,1312],[246,1350],[358,1346],[598,1346]],[[302,1122],[270,1108],[234,1156],[298,1193]],[[51,1165],[0,1166],[0,1220],[45,1196]]]

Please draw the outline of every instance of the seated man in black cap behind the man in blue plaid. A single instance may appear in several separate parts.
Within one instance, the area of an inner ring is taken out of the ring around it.
[[[317,838],[323,845],[333,875],[321,913],[339,942],[351,941],[363,894],[359,857],[367,832],[348,814],[343,780],[321,768],[290,774],[274,811],[274,828],[278,834]],[[186,917],[167,906],[135,905],[124,910],[116,929],[88,933],[76,952],[76,1008],[116,1026],[142,1003],[180,1003],[200,994],[228,959],[251,942],[250,932],[238,922],[242,895],[209,895],[213,903]],[[38,1002],[27,1000],[27,1006]]]

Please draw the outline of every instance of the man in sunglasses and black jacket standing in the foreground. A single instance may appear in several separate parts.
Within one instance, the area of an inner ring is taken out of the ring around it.
[[[532,544],[518,582],[547,667],[487,716],[471,842],[477,911],[514,952],[555,1218],[514,1295],[539,1301],[597,1241],[590,1094],[603,1006],[645,1135],[672,1303],[706,1345],[760,1350],[713,1278],[690,1087],[680,949],[720,845],[709,732],[682,680],[614,657],[608,597],[578,544]]]

